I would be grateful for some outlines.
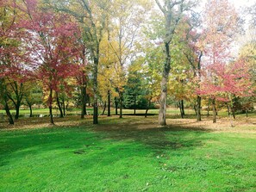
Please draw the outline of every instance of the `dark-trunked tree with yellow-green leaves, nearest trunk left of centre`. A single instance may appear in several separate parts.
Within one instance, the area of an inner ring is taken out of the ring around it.
[[[77,0],[69,3],[56,0],[45,0],[47,7],[72,15],[82,28],[83,43],[90,50],[89,58],[92,63],[93,76],[93,124],[98,123],[98,64],[100,57],[100,43],[103,38],[103,29],[109,1],[107,0]],[[81,50],[83,52],[83,50]]]

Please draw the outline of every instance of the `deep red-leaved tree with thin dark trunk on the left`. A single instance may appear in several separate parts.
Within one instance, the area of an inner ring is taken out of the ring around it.
[[[21,27],[33,37],[32,40],[27,39],[26,43],[34,59],[34,69],[47,94],[50,122],[53,124],[54,91],[58,95],[60,83],[77,74],[78,67],[74,64],[78,56],[74,35],[78,32],[77,26],[68,15],[57,15],[49,9],[42,9],[35,0],[24,1],[20,9],[27,14]]]

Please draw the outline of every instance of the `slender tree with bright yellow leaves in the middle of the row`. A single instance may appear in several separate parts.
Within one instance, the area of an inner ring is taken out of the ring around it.
[[[140,41],[141,24],[150,9],[150,1],[113,1],[110,7],[108,30],[109,45],[116,56],[114,62],[116,90],[119,94],[120,118],[122,118],[123,93],[126,84],[126,66],[135,55],[135,44]]]

